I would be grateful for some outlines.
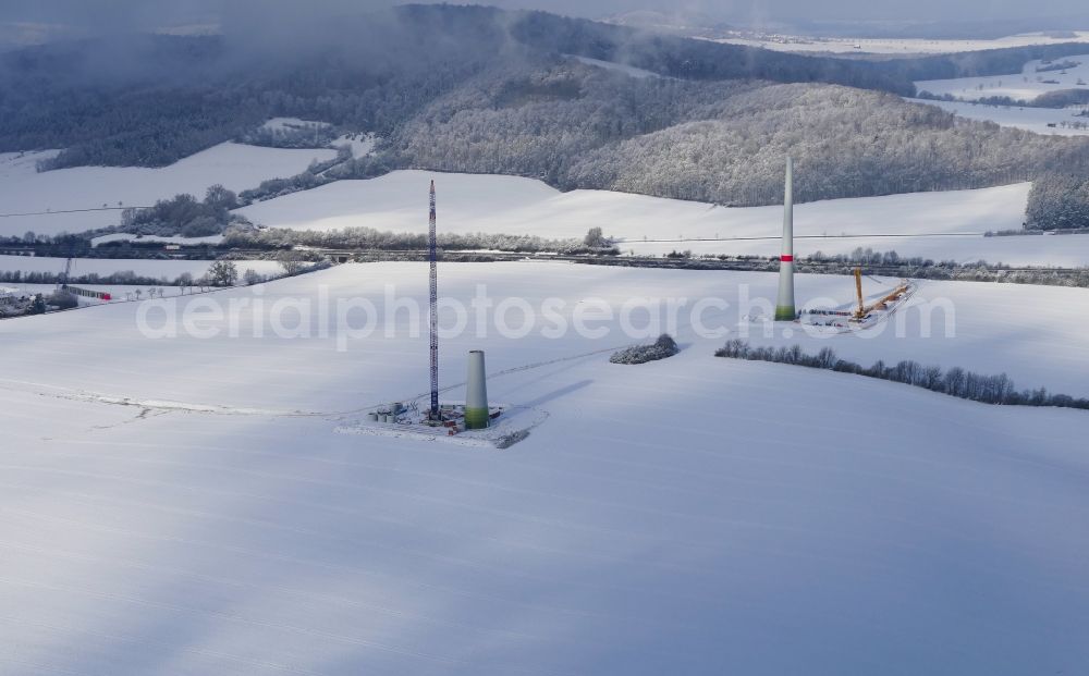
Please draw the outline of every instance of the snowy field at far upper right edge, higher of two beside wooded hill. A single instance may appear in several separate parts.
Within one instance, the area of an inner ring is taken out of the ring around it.
[[[1060,89],[1089,89],[1089,54],[1056,59],[1077,62],[1066,71],[1037,72],[1040,61],[1029,61],[1020,73],[1010,75],[987,75],[983,77],[957,77],[955,79],[923,79],[915,83],[919,91],[937,96],[951,94],[965,101],[976,101],[992,96],[1007,96],[1015,101],[1032,101],[1047,91]],[[1080,83],[1080,84],[1079,84]]]

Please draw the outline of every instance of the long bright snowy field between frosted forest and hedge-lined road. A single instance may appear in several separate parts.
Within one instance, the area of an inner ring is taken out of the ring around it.
[[[622,238],[624,253],[779,253],[774,239],[732,242],[644,242],[719,237],[775,237],[782,207],[727,209],[693,201],[605,190],[560,193],[530,179],[396,171],[368,181],[339,181],[313,190],[259,202],[240,212],[274,228],[328,231],[369,226],[394,232],[427,230],[421,209],[436,179],[439,228],[443,232],[493,232],[542,237],[583,237],[600,226]],[[896,250],[905,256],[1012,265],[1089,265],[1089,237],[989,237],[978,233],[1021,226],[1030,185],[981,190],[915,193],[834,199],[795,207],[795,234],[853,235],[796,242],[796,251],[845,254],[856,247]],[[972,236],[925,236],[976,233]],[[908,237],[857,235],[908,234]],[[856,237],[857,236],[857,237]]]

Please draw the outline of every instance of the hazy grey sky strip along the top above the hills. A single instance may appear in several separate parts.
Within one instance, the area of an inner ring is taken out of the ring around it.
[[[342,13],[388,0],[0,0],[0,22],[48,22],[147,27],[250,12]],[[687,11],[733,21],[802,20],[1005,20],[1082,14],[1085,0],[492,0],[509,9],[541,9],[603,16],[651,9]],[[1086,28],[1086,26],[1070,26]]]

